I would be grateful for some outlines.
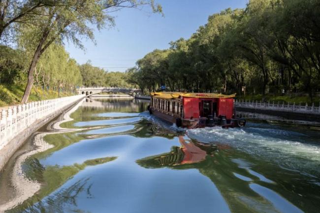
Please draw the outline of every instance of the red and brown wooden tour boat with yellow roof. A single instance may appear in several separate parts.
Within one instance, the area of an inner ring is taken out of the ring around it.
[[[188,129],[244,127],[246,120],[235,116],[234,97],[235,94],[153,92],[148,110],[177,127]]]

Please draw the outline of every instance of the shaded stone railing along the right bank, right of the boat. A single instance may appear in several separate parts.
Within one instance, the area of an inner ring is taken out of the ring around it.
[[[256,109],[266,109],[266,110],[276,110],[276,111],[295,111],[295,112],[303,112],[303,113],[312,113],[312,114],[320,114],[320,107],[315,106],[313,103],[312,106],[306,105],[296,105],[293,104],[285,104],[284,102],[280,104],[273,103],[262,103],[261,101],[240,101],[235,100],[235,106],[244,107],[244,108],[256,108]]]

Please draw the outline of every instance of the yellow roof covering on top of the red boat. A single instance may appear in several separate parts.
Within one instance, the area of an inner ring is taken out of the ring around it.
[[[151,95],[161,99],[177,99],[180,96],[186,98],[234,98],[236,93],[223,95],[218,93],[152,92]]]

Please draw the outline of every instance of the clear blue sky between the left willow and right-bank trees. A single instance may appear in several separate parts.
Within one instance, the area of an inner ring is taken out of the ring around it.
[[[86,51],[65,44],[66,51],[82,64],[91,60],[94,66],[108,71],[125,71],[154,49],[167,49],[170,41],[189,38],[207,23],[209,15],[231,7],[244,8],[248,0],[156,0],[164,17],[151,13],[149,7],[115,12],[116,26],[95,31],[96,45],[83,40]]]

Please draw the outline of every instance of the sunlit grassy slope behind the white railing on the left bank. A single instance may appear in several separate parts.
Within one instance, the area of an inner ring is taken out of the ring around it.
[[[0,107],[1,106],[11,106],[20,104],[23,93],[25,90],[25,85],[11,85],[11,84],[1,84],[0,85]],[[71,92],[60,92],[60,97],[74,95]],[[47,99],[58,98],[58,91],[54,90],[43,90],[35,86],[32,87],[31,94],[29,96],[28,102],[32,101],[42,101]]]

